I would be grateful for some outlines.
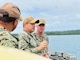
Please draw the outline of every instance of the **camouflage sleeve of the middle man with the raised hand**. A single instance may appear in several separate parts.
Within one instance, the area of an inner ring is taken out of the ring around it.
[[[30,42],[29,42],[29,37],[27,37],[25,34],[20,34],[19,35],[19,49],[37,53],[37,47],[32,47]]]

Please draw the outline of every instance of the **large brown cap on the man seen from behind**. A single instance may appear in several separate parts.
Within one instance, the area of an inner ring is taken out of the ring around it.
[[[0,9],[5,10],[8,13],[9,17],[13,17],[13,18],[20,18],[20,9],[12,3],[6,3],[4,4]],[[4,13],[3,13],[4,14]],[[0,13],[0,16],[3,17],[3,14]]]

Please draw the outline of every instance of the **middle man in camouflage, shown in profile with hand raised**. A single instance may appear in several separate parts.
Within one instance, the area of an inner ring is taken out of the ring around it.
[[[35,23],[39,20],[34,20],[33,17],[29,16],[23,21],[24,31],[19,35],[19,49],[29,51],[36,54],[41,54],[41,50],[47,46],[46,42],[40,43],[36,40],[32,32],[35,29]]]

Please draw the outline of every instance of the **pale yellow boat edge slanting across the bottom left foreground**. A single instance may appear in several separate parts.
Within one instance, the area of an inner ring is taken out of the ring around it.
[[[51,60],[37,54],[0,46],[0,60]]]

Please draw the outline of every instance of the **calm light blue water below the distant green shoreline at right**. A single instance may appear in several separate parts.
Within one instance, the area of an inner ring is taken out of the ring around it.
[[[66,52],[80,60],[80,35],[50,35],[49,52]]]

